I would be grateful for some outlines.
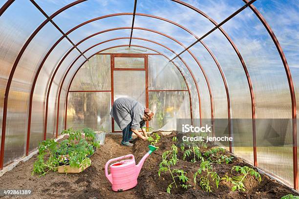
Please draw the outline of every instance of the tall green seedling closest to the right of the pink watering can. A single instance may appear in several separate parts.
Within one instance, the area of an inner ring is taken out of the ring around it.
[[[175,185],[175,187],[183,187],[185,189],[188,189],[188,187],[190,187],[191,185],[188,185],[188,178],[186,176],[186,172],[184,172],[181,169],[172,169],[171,167],[173,165],[175,165],[177,163],[177,147],[172,144],[171,146],[171,150],[170,151],[165,151],[162,154],[162,161],[160,162],[160,168],[158,171],[158,175],[159,177],[161,177],[161,173],[169,173],[171,175],[172,178],[172,182],[168,185],[167,187],[167,193],[171,193],[171,188],[173,186],[173,184]],[[175,181],[175,179],[179,180],[179,184],[177,184],[177,182]]]

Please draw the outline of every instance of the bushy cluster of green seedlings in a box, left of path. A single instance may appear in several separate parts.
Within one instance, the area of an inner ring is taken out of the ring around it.
[[[67,134],[68,139],[61,142],[47,139],[40,143],[32,175],[36,173],[44,176],[51,170],[57,171],[60,165],[70,165],[74,168],[90,165],[89,157],[94,153],[94,147],[100,146],[99,141],[95,141],[95,133],[89,128],[78,131],[70,128],[62,134]]]

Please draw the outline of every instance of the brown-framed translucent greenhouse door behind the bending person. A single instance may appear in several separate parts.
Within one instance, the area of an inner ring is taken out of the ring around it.
[[[111,80],[112,105],[114,100],[125,97],[149,107],[147,55],[113,54]],[[119,131],[121,129],[112,119],[112,132]]]

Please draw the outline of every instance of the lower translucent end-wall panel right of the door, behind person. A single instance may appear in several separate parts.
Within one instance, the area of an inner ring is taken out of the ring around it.
[[[149,109],[155,115],[149,126],[157,130],[176,130],[176,119],[190,119],[188,91],[149,92]]]

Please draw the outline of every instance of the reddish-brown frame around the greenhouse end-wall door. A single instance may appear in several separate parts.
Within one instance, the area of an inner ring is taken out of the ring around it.
[[[114,58],[144,58],[144,68],[115,68]],[[149,108],[149,56],[148,54],[111,54],[110,56],[110,71],[111,71],[111,108],[114,102],[114,71],[145,71],[146,74],[146,108]],[[121,132],[114,130],[114,119],[111,118],[112,133]],[[149,127],[149,122],[146,122],[146,126]]]

